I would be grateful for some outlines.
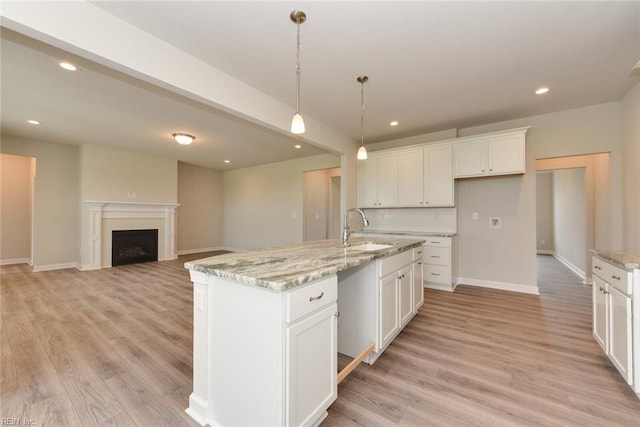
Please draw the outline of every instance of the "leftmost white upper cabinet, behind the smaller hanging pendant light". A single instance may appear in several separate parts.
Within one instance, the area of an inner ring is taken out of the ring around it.
[[[358,202],[361,208],[398,206],[397,153],[371,153],[358,160]]]

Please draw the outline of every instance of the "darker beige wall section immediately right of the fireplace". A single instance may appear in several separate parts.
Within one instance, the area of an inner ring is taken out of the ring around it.
[[[222,172],[178,163],[178,254],[223,246]]]

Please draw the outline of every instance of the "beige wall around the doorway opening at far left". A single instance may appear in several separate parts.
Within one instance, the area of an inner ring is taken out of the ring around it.
[[[2,152],[36,158],[33,267],[73,267],[78,260],[78,147],[2,136]]]

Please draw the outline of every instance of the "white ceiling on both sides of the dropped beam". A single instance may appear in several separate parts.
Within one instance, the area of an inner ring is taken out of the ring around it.
[[[292,112],[289,13],[304,10],[300,110],[359,140],[356,77],[366,74],[367,143],[615,101],[639,81],[631,73],[640,59],[637,1],[92,3]],[[113,144],[221,170],[324,152],[294,149],[302,138],[6,29],[2,37],[3,134]],[[70,57],[79,72],[57,68]],[[551,91],[533,95],[543,85]],[[42,124],[27,126],[32,117]],[[167,137],[180,130],[197,134],[196,143]]]

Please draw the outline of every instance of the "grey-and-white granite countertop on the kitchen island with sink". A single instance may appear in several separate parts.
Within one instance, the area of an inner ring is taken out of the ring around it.
[[[387,244],[391,247],[376,251],[350,249],[365,242]],[[280,292],[379,258],[420,247],[423,242],[353,237],[349,239],[349,246],[345,248],[337,239],[315,240],[217,255],[187,262],[185,267]]]

